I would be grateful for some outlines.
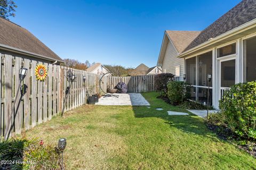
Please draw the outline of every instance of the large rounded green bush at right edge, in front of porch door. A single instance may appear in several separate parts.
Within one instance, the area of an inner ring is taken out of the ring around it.
[[[233,132],[256,140],[256,81],[238,83],[226,90],[219,107]]]

